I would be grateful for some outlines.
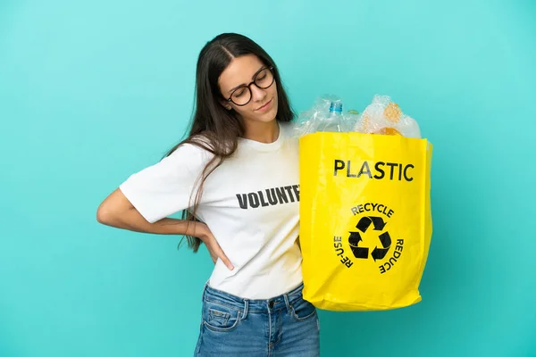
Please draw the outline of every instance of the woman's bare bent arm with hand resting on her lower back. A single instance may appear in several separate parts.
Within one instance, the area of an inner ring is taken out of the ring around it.
[[[149,223],[130,201],[117,188],[105,198],[96,211],[96,220],[106,226],[128,229],[140,233],[162,235],[179,235],[200,238],[205,243],[213,262],[218,258],[232,270],[232,264],[216,242],[212,232],[205,223],[198,221],[175,220],[164,218],[155,223]]]

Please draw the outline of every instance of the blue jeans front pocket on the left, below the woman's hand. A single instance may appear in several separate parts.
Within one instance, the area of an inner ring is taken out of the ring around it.
[[[203,303],[203,324],[206,328],[217,331],[231,331],[239,325],[242,311],[215,301]]]

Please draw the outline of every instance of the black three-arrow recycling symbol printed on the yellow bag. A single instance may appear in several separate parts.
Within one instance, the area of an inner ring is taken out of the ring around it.
[[[359,246],[359,243],[363,242],[361,233],[364,234],[367,230],[369,230],[371,225],[373,226],[373,228],[371,228],[369,232],[373,231],[375,233],[378,233],[377,237],[379,238],[379,243],[381,243],[381,246],[374,246],[371,256],[373,257],[374,262],[385,258],[385,255],[389,252],[389,248],[391,245],[389,232],[383,232],[383,228],[385,228],[386,224],[387,222],[383,221],[381,217],[362,217],[361,220],[359,220],[356,225],[358,231],[350,232],[350,237],[348,238],[350,249],[352,250],[352,253],[354,253],[354,256],[357,259],[368,259],[369,257],[369,247]],[[370,235],[371,233],[367,234],[367,236]],[[368,240],[369,239],[367,238],[367,241]]]

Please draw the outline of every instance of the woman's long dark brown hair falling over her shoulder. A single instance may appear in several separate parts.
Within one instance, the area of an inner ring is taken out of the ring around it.
[[[230,61],[246,54],[255,54],[265,66],[273,67],[275,85],[278,86],[278,112],[276,119],[290,121],[294,118],[294,112],[289,104],[289,98],[282,85],[280,73],[273,62],[272,57],[253,40],[235,33],[224,33],[208,42],[201,50],[197,59],[196,71],[196,104],[193,119],[191,121],[188,137],[175,145],[167,154],[172,154],[180,145],[197,145],[213,154],[213,158],[205,166],[199,177],[194,203],[191,203],[191,212],[182,212],[182,220],[197,220],[196,212],[203,185],[206,178],[214,172],[222,162],[235,153],[239,137],[244,135],[244,125],[236,113],[226,110],[222,106],[222,93],[218,85],[218,79],[222,71],[227,68]],[[188,247],[197,252],[201,239],[186,236]]]

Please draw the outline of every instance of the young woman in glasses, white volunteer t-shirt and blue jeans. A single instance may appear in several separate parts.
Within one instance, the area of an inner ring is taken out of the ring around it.
[[[222,34],[199,54],[196,80],[188,138],[126,179],[97,220],[205,244],[215,265],[196,355],[317,356],[317,311],[302,296],[298,146],[277,66],[251,39]]]

